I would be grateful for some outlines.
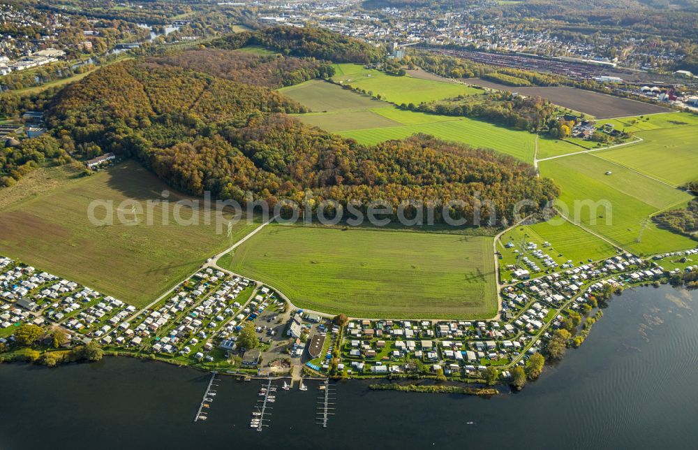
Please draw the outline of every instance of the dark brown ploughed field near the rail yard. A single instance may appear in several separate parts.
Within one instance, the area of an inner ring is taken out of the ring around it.
[[[601,94],[600,92],[585,91],[584,89],[574,87],[512,87],[480,78],[468,78],[466,82],[491,89],[518,92],[525,96],[540,96],[563,108],[570,108],[571,110],[592,115],[597,119],[669,111],[663,106],[621,99],[620,97]]]

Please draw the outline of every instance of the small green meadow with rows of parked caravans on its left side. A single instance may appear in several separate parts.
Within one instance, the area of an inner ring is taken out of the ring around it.
[[[580,263],[587,263],[589,259],[597,261],[616,254],[616,249],[608,242],[558,216],[549,222],[517,226],[501,235],[498,241],[498,250],[503,256],[499,261],[503,279],[511,277],[510,272],[505,270],[505,267],[516,263],[518,254],[514,250],[528,255],[530,259],[538,262],[540,268],[544,269],[540,261],[531,256],[530,252],[526,252],[525,246],[521,249],[521,241],[525,243],[535,242],[538,249],[548,254],[560,265],[571,259],[575,266],[579,266]],[[550,247],[543,247],[543,243],[546,241],[549,242]],[[513,242],[514,247],[506,248],[507,242]]]

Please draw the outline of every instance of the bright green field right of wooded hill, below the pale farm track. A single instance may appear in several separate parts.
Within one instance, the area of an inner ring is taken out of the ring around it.
[[[695,241],[660,230],[648,220],[655,212],[685,204],[689,194],[592,154],[541,161],[539,168],[562,190],[556,205],[566,205],[568,217],[616,245],[637,254],[695,247]],[[604,175],[607,171],[612,175]],[[585,207],[576,214],[575,203],[580,201],[607,201],[611,213]]]

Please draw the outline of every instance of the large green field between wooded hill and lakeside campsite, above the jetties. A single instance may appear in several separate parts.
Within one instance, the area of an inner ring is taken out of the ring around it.
[[[298,307],[350,317],[487,318],[492,238],[271,225],[218,261]]]

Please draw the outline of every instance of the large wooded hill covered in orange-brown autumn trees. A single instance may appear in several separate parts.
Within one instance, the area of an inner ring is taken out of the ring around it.
[[[206,66],[196,62],[206,56],[181,61]],[[273,73],[249,85],[171,66],[177,58],[126,61],[89,75],[54,101],[51,128],[70,135],[78,152],[136,157],[175,189],[239,203],[249,200],[246,192],[270,205],[309,196],[315,205],[355,201],[362,211],[378,199],[393,208],[436,201],[438,217],[450,208],[473,223],[475,196],[490,201],[482,217],[496,208],[500,221],[511,220],[523,198],[533,201],[524,210],[530,212],[558,194],[549,180],[533,176],[532,166],[494,152],[425,136],[360,145],[311,129],[283,115],[303,106],[259,85],[279,82]],[[446,206],[452,199],[465,205]]]

